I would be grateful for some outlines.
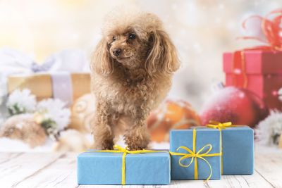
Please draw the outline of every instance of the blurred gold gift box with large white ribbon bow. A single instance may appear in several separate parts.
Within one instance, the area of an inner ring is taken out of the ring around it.
[[[60,99],[65,107],[72,109],[80,97],[91,92],[88,63],[82,50],[57,52],[43,63],[36,63],[27,54],[8,47],[0,50],[0,57],[0,78],[8,95],[17,89],[28,89],[37,101]],[[4,113],[6,108],[1,108]],[[73,113],[68,127],[77,128],[79,120]]]

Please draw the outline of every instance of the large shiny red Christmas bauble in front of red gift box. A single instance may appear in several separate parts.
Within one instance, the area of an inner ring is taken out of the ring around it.
[[[207,125],[209,120],[215,120],[255,127],[267,115],[269,110],[259,96],[247,89],[225,87],[204,104],[200,118],[202,125]]]

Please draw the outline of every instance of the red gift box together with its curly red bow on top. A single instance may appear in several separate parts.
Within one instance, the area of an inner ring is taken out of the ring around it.
[[[239,38],[256,39],[266,45],[223,54],[226,86],[249,89],[261,97],[269,108],[280,110],[282,103],[278,99],[278,91],[282,88],[281,10],[271,11],[264,18],[259,15],[250,16],[243,22],[244,29],[250,18],[262,20],[257,31],[262,31],[265,39]]]

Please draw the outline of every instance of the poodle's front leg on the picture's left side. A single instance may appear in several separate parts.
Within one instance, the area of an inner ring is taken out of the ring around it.
[[[113,113],[109,104],[97,104],[92,133],[94,135],[94,149],[113,149],[114,131]]]

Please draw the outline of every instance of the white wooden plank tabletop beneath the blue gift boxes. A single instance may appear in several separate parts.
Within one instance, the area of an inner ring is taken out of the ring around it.
[[[282,149],[281,149],[282,150]],[[77,153],[0,153],[0,187],[282,187],[282,152],[256,153],[254,175],[171,181],[167,186],[80,185]]]

